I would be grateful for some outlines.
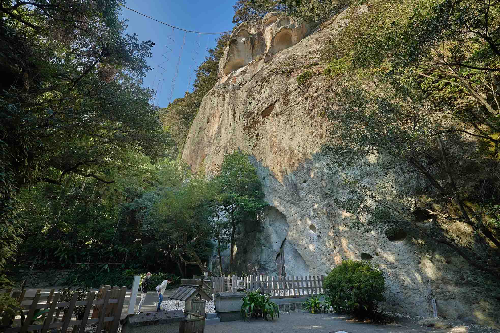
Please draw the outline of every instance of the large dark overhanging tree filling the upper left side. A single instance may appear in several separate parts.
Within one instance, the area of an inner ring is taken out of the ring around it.
[[[119,8],[116,0],[0,3],[0,265],[19,241],[20,188],[75,175],[112,183],[128,152],[164,154],[153,91],[141,87],[154,43],[124,34]]]

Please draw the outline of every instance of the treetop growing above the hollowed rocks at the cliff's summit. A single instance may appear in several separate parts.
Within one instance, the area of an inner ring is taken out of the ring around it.
[[[232,8],[232,22],[241,23],[250,19],[261,19],[271,11],[284,11],[286,4],[278,0],[237,0]]]

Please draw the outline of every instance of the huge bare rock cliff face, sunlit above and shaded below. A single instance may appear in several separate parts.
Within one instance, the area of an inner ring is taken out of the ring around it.
[[[182,153],[193,171],[202,169],[207,175],[222,162],[224,152],[241,149],[250,153],[270,207],[260,224],[238,230],[244,235],[236,244],[238,272],[322,275],[342,260],[370,260],[386,278],[383,309],[430,317],[431,298],[435,298],[442,318],[466,317],[500,327],[498,289],[448,248],[434,243],[426,247],[417,234],[386,235],[383,227],[366,234],[343,227],[346,213],[332,204],[330,195],[342,190],[335,177],[337,170],[329,168],[320,154],[328,123],[318,114],[333,84],[317,75],[298,86],[296,76],[305,67],[323,68],[314,65],[319,48],[345,20],[340,14],[302,40],[302,27],[297,27],[297,39],[291,38],[290,47],[279,50],[277,45],[288,45],[276,43],[284,40],[280,32],[294,23],[285,24],[288,21],[283,17],[274,20],[273,15],[268,14],[260,27],[262,31],[265,26],[265,46],[256,36],[256,22],[243,25],[251,25],[248,36],[243,36],[242,28],[234,32],[241,41],[226,48],[220,62],[223,76],[203,97]],[[272,24],[266,26],[266,19]],[[244,47],[275,53],[261,58],[252,53],[236,60],[236,50]],[[369,167],[344,171],[376,182]],[[462,237],[472,237],[465,225],[449,228],[459,229]]]

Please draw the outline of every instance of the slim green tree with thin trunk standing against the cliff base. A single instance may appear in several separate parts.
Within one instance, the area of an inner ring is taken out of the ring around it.
[[[230,230],[229,266],[232,273],[237,226],[268,203],[263,199],[262,184],[255,167],[248,160],[247,153],[239,150],[231,154],[225,153],[217,171],[217,176],[212,179],[212,183],[218,188],[215,209],[217,218],[223,217]],[[221,261],[220,253],[219,261]]]

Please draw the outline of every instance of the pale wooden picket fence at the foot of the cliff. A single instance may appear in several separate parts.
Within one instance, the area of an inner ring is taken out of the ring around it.
[[[260,277],[232,276],[211,277],[211,292],[233,292],[237,288],[245,289],[247,292],[256,289],[264,290],[272,296],[270,298],[289,298],[289,297],[307,297],[323,293],[324,276],[309,276],[309,277],[266,277],[264,281]]]

